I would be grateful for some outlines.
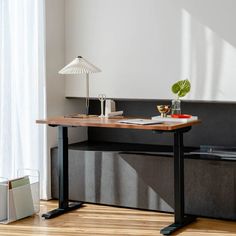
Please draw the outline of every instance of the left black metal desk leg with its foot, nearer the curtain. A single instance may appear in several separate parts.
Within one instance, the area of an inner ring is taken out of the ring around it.
[[[58,127],[58,168],[59,168],[59,207],[42,215],[45,219],[51,219],[68,211],[78,209],[83,202],[69,203],[68,180],[68,128]]]

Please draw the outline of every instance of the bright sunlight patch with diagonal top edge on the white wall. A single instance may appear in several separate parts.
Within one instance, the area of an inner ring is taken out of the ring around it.
[[[182,10],[181,78],[194,100],[236,101],[236,48]]]

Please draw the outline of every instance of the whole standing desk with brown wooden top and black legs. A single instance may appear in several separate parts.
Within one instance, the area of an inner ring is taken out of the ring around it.
[[[127,118],[124,118],[127,119]],[[174,223],[161,230],[163,235],[172,232],[193,222],[195,217],[184,214],[184,158],[183,134],[200,121],[189,123],[163,123],[155,125],[134,125],[118,123],[120,119],[107,118],[69,118],[55,117],[46,120],[37,120],[39,124],[58,127],[58,160],[59,160],[59,206],[57,209],[43,214],[50,219],[68,211],[80,208],[83,202],[69,203],[68,196],[68,127],[103,127],[119,129],[141,129],[156,133],[172,133],[174,138]]]

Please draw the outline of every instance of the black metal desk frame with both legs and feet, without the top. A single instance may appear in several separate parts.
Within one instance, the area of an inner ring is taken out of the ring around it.
[[[196,218],[184,214],[184,145],[183,134],[191,126],[173,131],[154,131],[157,133],[171,132],[174,134],[174,223],[163,228],[161,234],[170,235],[174,231],[190,224]],[[58,168],[59,168],[59,207],[42,215],[51,219],[68,211],[80,208],[83,202],[69,203],[68,177],[68,126],[58,126]]]

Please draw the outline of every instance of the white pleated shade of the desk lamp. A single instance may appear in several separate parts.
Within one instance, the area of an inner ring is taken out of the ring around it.
[[[78,56],[67,66],[62,68],[59,74],[90,74],[101,72],[99,68],[86,61],[83,57]]]

